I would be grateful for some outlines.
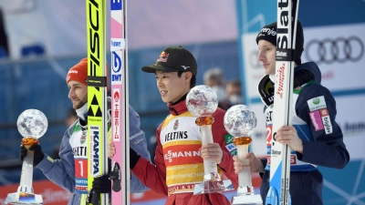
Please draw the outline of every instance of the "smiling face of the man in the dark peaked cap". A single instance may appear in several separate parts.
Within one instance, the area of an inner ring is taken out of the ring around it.
[[[190,80],[192,76],[193,74],[191,72],[183,72],[182,76],[178,77],[178,72],[163,72],[161,70],[156,70],[156,83],[162,101],[165,103],[174,103],[182,98],[190,90]]]

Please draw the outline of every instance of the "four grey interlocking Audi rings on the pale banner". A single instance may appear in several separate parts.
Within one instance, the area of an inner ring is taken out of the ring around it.
[[[314,39],[308,42],[304,50],[308,61],[317,64],[356,62],[364,56],[364,43],[358,36]]]

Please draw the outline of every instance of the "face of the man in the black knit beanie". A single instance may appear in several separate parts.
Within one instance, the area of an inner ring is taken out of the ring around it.
[[[275,74],[276,46],[266,40],[259,40],[257,59],[261,61],[265,68],[266,75]]]

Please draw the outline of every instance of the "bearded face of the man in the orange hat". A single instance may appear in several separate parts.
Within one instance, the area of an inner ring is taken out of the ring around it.
[[[71,99],[72,108],[81,108],[88,102],[88,87],[84,84],[71,80],[68,82],[68,89],[68,98]]]

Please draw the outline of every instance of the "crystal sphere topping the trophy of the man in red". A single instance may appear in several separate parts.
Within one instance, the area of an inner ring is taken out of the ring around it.
[[[193,87],[186,96],[186,106],[195,117],[211,116],[218,107],[218,97],[211,87]]]

